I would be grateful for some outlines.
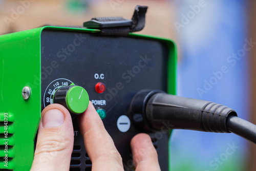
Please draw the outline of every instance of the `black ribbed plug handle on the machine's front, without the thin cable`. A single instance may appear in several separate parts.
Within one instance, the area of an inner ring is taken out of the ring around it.
[[[215,133],[230,133],[226,119],[229,115],[237,116],[234,110],[221,104],[166,93],[154,94],[147,102],[145,114],[157,130],[168,122],[173,129]]]

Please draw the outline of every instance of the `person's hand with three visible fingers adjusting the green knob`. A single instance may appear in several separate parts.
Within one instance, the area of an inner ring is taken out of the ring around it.
[[[69,111],[60,104],[51,104],[41,116],[31,171],[69,170],[74,143]],[[78,115],[78,123],[92,170],[124,170],[122,158],[91,102],[86,112]],[[136,171],[160,170],[156,149],[148,135],[136,135],[131,148]]]

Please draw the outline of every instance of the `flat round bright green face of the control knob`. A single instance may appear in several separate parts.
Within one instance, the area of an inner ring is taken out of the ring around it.
[[[72,113],[83,113],[88,108],[89,95],[82,87],[74,86],[66,94],[66,104]]]

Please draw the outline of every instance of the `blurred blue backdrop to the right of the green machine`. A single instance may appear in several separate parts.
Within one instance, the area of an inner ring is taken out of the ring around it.
[[[248,2],[173,3],[181,52],[178,95],[227,105],[248,119]],[[234,134],[175,130],[170,143],[172,170],[245,170],[247,142]],[[226,152],[230,145],[235,147],[231,155]]]

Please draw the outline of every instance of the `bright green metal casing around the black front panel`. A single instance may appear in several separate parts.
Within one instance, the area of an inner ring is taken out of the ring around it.
[[[90,33],[100,31],[46,26],[0,36],[0,170],[29,170],[33,162],[34,139],[41,115],[40,38],[44,29]],[[169,47],[168,93],[176,94],[177,49],[174,41],[132,33],[129,36],[166,42]],[[31,89],[27,100],[22,96],[25,86]],[[8,124],[4,122],[6,119]],[[7,137],[5,131],[8,131]],[[6,141],[8,152],[5,150]],[[4,162],[6,154],[8,167]]]

